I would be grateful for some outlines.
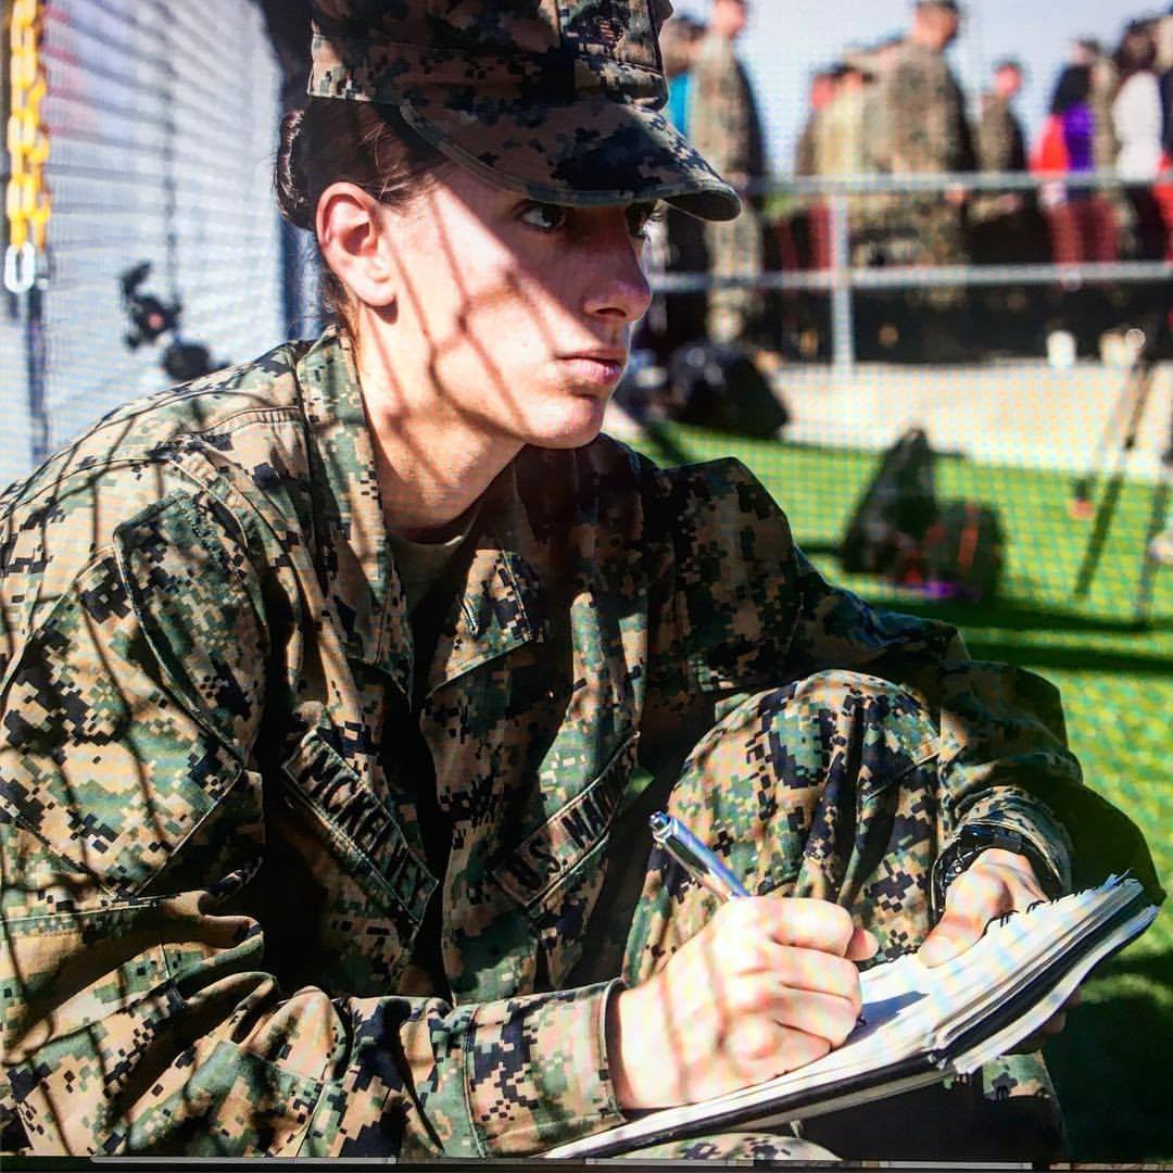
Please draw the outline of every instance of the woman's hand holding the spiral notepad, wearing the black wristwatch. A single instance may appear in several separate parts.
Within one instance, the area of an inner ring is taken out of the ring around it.
[[[1045,901],[1035,869],[1024,855],[991,847],[968,867],[945,891],[945,910],[936,928],[924,938],[920,958],[925,965],[940,965],[968,949],[985,931],[986,924],[1006,913],[1025,911]],[[1012,1053],[1036,1051],[1066,1023],[1066,1006],[1079,1004],[1077,990],[1033,1035],[1023,1039]]]

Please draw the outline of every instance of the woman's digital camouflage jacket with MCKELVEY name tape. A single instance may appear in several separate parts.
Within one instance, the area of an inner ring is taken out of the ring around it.
[[[1053,690],[828,588],[737,462],[523,452],[419,665],[374,468],[327,332],[116,411],[5,496],[9,1146],[486,1155],[618,1123],[615,975],[575,968],[633,765],[820,666],[922,690],[945,829],[1009,822],[1066,876],[1047,808],[1090,792]],[[450,989],[401,996],[438,887]]]

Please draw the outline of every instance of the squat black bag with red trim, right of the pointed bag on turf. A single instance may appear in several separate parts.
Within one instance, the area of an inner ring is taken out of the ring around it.
[[[977,501],[949,501],[924,535],[929,594],[981,603],[998,590],[1005,536],[996,509]]]

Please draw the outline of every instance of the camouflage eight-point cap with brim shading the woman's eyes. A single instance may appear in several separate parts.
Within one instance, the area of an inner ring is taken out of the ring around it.
[[[664,199],[732,219],[733,189],[660,113],[669,0],[313,0],[310,94],[381,102],[443,155],[556,204]]]

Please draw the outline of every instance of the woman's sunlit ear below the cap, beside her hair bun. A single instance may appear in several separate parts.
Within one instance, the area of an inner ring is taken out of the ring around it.
[[[318,242],[334,276],[371,306],[398,293],[382,205],[353,183],[332,183],[318,201]]]

